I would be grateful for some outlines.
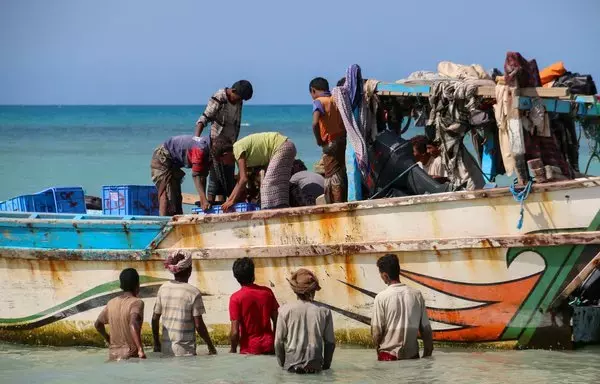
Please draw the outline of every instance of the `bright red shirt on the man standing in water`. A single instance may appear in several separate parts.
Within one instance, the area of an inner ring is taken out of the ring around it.
[[[240,353],[273,353],[275,335],[271,315],[279,304],[273,291],[256,284],[244,285],[229,299],[229,317],[240,324]]]

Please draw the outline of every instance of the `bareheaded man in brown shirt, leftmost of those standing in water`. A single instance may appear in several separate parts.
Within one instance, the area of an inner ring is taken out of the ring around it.
[[[140,336],[144,322],[144,302],[140,293],[140,276],[133,268],[124,269],[119,276],[123,294],[111,299],[100,312],[94,326],[109,344],[110,360],[146,358]],[[110,336],[104,327],[110,324]]]

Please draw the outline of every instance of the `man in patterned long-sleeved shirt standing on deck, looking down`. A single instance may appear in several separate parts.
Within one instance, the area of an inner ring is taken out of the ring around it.
[[[195,136],[200,136],[208,124],[211,125],[210,138],[226,139],[235,143],[240,135],[242,106],[252,98],[252,84],[240,80],[231,88],[219,89],[208,100],[204,113],[196,122]],[[208,200],[215,201],[216,196],[227,198],[235,185],[235,164],[213,163],[208,183]]]

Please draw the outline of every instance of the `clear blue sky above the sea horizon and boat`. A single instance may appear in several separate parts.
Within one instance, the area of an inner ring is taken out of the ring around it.
[[[352,63],[392,81],[439,61],[563,60],[600,86],[599,0],[0,0],[0,104],[308,103]]]

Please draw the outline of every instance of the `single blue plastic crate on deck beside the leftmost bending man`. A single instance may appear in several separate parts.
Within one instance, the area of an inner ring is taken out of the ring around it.
[[[102,213],[116,216],[158,216],[158,191],[154,185],[104,185]]]

